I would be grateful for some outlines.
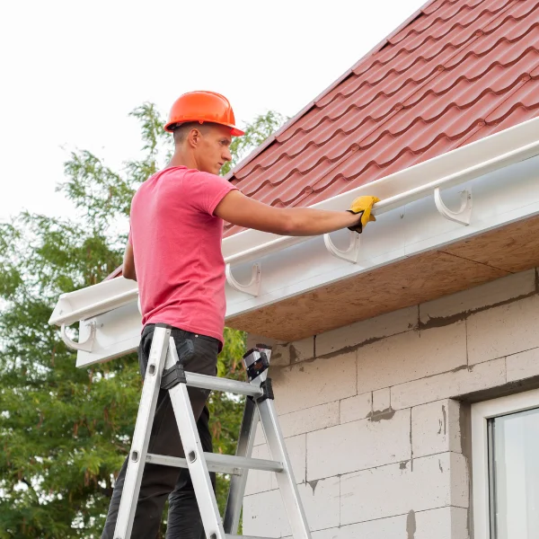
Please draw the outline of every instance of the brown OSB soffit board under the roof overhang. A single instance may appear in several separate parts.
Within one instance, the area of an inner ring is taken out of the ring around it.
[[[278,340],[300,340],[537,265],[539,217],[320,287],[226,324]]]

